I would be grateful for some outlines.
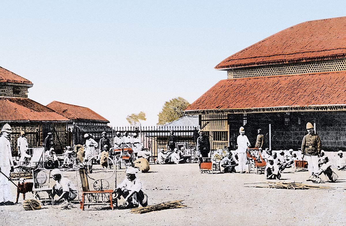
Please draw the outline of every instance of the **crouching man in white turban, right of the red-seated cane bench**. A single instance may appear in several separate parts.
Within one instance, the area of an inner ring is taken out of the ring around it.
[[[125,198],[130,208],[136,208],[138,206],[146,207],[148,205],[148,197],[142,191],[142,183],[136,178],[137,169],[128,167],[125,171],[126,179],[121,182],[114,190],[117,193],[117,197],[120,196]]]

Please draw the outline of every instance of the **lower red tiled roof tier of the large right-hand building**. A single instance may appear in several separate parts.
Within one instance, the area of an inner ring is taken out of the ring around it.
[[[225,79],[185,110],[345,105],[345,93],[346,71]]]

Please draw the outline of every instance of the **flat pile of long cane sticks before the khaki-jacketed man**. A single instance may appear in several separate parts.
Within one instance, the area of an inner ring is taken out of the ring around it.
[[[339,190],[344,191],[346,188],[343,187],[330,187],[330,186],[318,186],[318,185],[310,185],[303,184],[298,182],[263,182],[263,183],[246,183],[253,184],[251,186],[245,187],[255,187],[255,188],[281,188],[281,189],[327,189],[327,190]],[[256,185],[263,184],[263,185]]]

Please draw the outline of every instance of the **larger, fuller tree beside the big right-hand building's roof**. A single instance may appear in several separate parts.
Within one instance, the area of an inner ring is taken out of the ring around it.
[[[177,97],[170,101],[166,101],[162,107],[162,111],[158,113],[157,125],[169,123],[184,116],[184,110],[190,103],[184,98]]]

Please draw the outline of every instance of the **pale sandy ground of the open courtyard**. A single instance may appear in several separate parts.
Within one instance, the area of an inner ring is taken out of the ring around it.
[[[308,172],[289,171],[285,170],[281,181],[312,184],[305,181]],[[75,172],[63,174],[75,182]],[[346,171],[337,174],[338,183],[320,185],[346,187]],[[117,177],[118,183],[125,178],[124,169]],[[82,211],[75,204],[70,210],[48,205],[25,211],[20,196],[19,204],[0,206],[2,225],[345,225],[346,191],[244,187],[244,183],[267,180],[255,173],[201,174],[197,163],[151,165],[151,173],[138,177],[145,184],[149,205],[184,199],[192,208],[132,214],[126,209],[100,210],[102,206]],[[11,188],[14,197],[16,188]]]

